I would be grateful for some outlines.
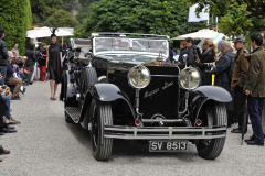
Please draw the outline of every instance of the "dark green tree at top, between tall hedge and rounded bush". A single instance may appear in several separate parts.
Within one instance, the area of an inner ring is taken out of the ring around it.
[[[33,23],[45,21],[55,11],[63,9],[62,0],[30,0]]]

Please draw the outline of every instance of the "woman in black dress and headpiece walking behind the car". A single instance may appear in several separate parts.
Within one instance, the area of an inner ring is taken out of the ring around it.
[[[62,80],[62,47],[57,44],[55,29],[51,35],[52,44],[47,47],[46,68],[50,72],[51,100],[56,100],[57,84]]]

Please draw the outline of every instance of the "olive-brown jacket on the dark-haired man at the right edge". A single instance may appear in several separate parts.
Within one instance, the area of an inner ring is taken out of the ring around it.
[[[265,52],[262,47],[253,51],[244,85],[244,91],[252,91],[252,97],[265,97]]]

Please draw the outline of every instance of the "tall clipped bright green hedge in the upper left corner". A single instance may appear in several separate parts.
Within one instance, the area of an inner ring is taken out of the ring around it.
[[[32,24],[30,0],[1,0],[0,28],[4,30],[8,50],[18,42],[20,55],[25,52],[26,29]]]

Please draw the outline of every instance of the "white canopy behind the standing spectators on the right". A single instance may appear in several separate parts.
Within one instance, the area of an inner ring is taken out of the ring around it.
[[[204,38],[214,40],[215,37],[223,38],[223,37],[226,37],[226,36],[223,33],[219,33],[219,32],[213,31],[213,30],[204,29],[204,30],[200,30],[198,32],[176,36],[172,40],[173,41],[181,41],[181,40],[184,40],[187,37],[199,38],[199,40],[204,40]]]

